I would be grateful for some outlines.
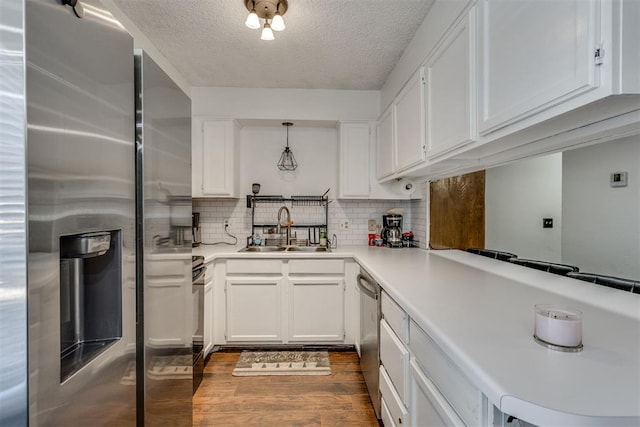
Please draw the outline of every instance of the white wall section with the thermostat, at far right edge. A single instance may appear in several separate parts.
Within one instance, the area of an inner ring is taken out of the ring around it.
[[[627,187],[609,186],[611,172]],[[640,279],[640,136],[563,157],[562,258],[581,271]]]

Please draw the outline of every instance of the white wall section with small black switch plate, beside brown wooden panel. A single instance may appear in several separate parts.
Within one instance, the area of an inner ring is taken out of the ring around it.
[[[553,228],[542,228],[553,218]],[[491,168],[485,177],[485,247],[562,260],[562,153]]]

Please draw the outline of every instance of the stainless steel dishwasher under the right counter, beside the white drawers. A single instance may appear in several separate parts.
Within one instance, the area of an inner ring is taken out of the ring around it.
[[[380,285],[364,269],[358,274],[360,291],[360,367],[376,417],[380,419]]]

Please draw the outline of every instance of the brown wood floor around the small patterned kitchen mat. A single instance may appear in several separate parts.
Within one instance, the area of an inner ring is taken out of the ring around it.
[[[240,353],[214,353],[193,399],[194,426],[375,426],[358,355],[330,352],[331,375],[231,375]]]

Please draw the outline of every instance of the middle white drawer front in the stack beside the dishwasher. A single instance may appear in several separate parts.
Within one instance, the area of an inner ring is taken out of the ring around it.
[[[406,403],[409,351],[384,320],[380,321],[380,362],[389,374],[400,400]]]

